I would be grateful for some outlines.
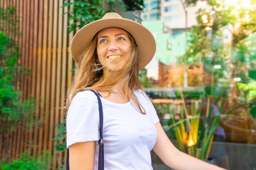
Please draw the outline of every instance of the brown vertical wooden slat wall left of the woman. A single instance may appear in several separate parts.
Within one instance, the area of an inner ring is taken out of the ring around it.
[[[23,92],[23,99],[30,95],[35,98],[34,116],[40,120],[32,130],[21,122],[10,135],[11,156],[17,159],[24,151],[35,155],[49,150],[54,155],[52,169],[60,168],[57,158],[62,160],[65,157],[62,153],[56,155],[53,150],[54,124],[64,119],[60,108],[64,106],[67,87],[71,84],[70,70],[74,64],[69,50],[73,34],[67,31],[67,15],[62,15],[68,9],[61,8],[62,5],[63,0],[0,0],[0,7],[14,6],[20,17],[17,31],[21,33],[18,44],[22,56],[18,64],[31,68],[32,73],[20,75],[17,89]],[[0,155],[2,152],[0,149]]]

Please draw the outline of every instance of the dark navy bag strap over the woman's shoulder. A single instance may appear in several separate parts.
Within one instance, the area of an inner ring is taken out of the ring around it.
[[[101,96],[98,92],[92,91],[98,99],[99,104],[99,161],[98,161],[98,170],[104,170],[104,144],[103,144],[103,109],[102,109],[102,103],[101,103]],[[66,170],[70,170],[69,165],[69,149],[67,149],[67,162],[66,162]]]

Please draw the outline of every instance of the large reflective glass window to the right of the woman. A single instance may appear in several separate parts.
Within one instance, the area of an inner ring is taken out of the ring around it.
[[[156,67],[152,62],[140,77],[165,132],[190,155],[228,170],[256,170],[255,23],[247,27],[256,15],[249,13],[248,22],[240,22],[247,14],[243,9],[238,10],[243,15],[222,18],[230,11],[216,13],[215,3],[201,6],[199,11],[214,13],[207,17],[218,20],[215,29],[198,22],[197,29],[186,33],[178,27],[184,18],[167,12],[178,3],[160,2],[161,12],[166,11],[159,14],[164,27],[145,22],[156,37]],[[202,20],[202,13],[190,17]],[[230,28],[238,29],[234,34]],[[171,170],[160,161],[152,152],[153,169]]]

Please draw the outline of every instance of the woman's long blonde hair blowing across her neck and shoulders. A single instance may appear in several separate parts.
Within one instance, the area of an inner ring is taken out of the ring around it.
[[[130,89],[130,91],[128,91],[128,97],[132,99],[142,114],[146,114],[145,109],[141,106],[134,93],[134,91],[140,89],[144,94],[146,94],[139,80],[137,45],[132,36],[128,32],[127,34],[131,42],[131,48],[128,51],[123,51],[123,53],[125,55],[130,53],[131,55],[131,57],[129,57],[128,64],[126,64],[124,68],[113,72],[112,76],[107,79],[103,79],[103,82],[101,83],[98,83],[98,81],[103,76],[103,66],[98,62],[96,52],[97,35],[95,36],[89,48],[85,51],[81,64],[77,68],[72,81],[72,86],[67,91],[66,109],[69,108],[76,93],[84,90],[106,90],[109,95],[111,95],[112,87],[118,84],[124,77],[128,76],[128,88]]]

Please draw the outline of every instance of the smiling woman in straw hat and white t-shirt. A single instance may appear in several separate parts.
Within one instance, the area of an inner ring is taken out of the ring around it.
[[[180,152],[166,136],[139,82],[155,54],[155,39],[141,24],[107,13],[74,36],[79,68],[67,98],[71,170],[97,170],[102,97],[105,170],[152,170],[150,150],[176,170],[223,170]]]

